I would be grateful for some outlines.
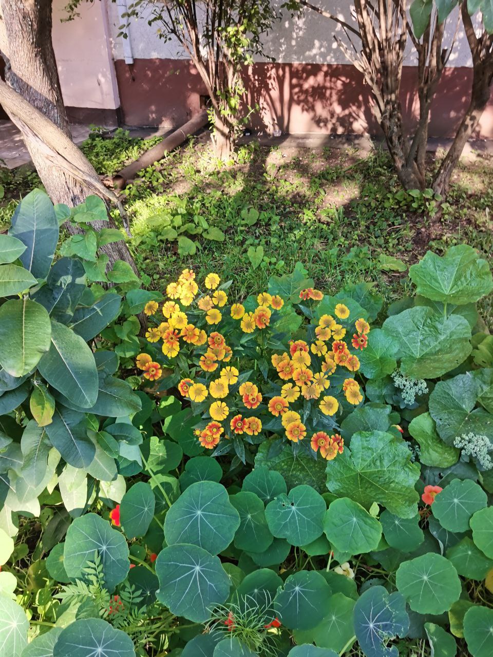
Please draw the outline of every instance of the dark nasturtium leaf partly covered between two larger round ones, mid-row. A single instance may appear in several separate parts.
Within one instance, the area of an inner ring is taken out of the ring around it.
[[[260,497],[255,493],[240,491],[231,495],[229,501],[240,516],[240,526],[235,533],[235,547],[253,552],[266,551],[274,537],[268,528],[264,503]]]

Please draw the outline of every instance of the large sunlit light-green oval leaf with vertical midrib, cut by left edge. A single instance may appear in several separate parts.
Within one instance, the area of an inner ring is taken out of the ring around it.
[[[0,363],[12,376],[34,370],[50,348],[51,323],[43,306],[12,299],[0,307]]]

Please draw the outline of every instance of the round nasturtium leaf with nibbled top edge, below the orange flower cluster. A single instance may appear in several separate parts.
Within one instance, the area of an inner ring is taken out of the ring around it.
[[[305,545],[323,532],[323,518],[327,505],[311,486],[296,486],[277,495],[266,507],[270,531],[277,538],[285,538],[291,545]]]

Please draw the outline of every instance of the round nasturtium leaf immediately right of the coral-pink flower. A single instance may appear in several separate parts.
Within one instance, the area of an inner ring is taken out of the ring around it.
[[[467,532],[471,516],[484,509],[487,501],[486,493],[476,482],[453,479],[436,495],[431,510],[449,532]]]

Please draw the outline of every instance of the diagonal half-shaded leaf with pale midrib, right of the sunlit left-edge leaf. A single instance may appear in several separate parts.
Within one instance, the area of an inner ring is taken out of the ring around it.
[[[51,321],[51,348],[37,366],[47,382],[84,409],[98,397],[98,374],[93,352],[70,328]]]

